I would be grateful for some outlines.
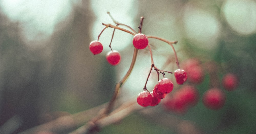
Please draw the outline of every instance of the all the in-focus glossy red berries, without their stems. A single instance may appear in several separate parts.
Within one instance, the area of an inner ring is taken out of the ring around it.
[[[144,49],[148,46],[148,37],[145,34],[138,33],[134,35],[132,43],[135,48]],[[96,55],[102,52],[103,45],[99,41],[92,41],[89,48]],[[111,65],[117,65],[121,60],[121,55],[118,51],[110,51],[106,55],[106,60]],[[183,69],[175,70],[174,75],[178,84],[183,84],[187,80],[187,73]],[[144,107],[155,106],[172,90],[173,82],[168,78],[163,78],[155,85],[152,92],[141,92],[137,97],[137,102]]]

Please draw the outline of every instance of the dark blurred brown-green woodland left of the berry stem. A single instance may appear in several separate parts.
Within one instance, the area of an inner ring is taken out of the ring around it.
[[[44,47],[33,49],[26,46],[19,24],[1,14],[0,126],[13,117],[17,133],[109,100],[114,69],[88,49],[93,23],[88,2],[75,8],[70,23],[43,41]]]

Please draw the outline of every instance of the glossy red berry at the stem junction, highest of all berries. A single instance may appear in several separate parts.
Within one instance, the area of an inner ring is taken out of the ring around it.
[[[144,49],[148,45],[148,38],[145,34],[138,33],[132,39],[133,46],[137,49]]]

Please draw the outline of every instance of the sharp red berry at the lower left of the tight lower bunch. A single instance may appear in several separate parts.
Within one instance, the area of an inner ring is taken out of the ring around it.
[[[139,93],[137,97],[137,102],[139,105],[146,107],[152,103],[152,99],[153,97],[149,92],[143,91]]]

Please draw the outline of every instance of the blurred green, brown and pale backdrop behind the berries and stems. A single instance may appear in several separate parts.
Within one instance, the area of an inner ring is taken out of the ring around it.
[[[133,36],[116,30],[112,49],[121,53],[118,66],[105,60],[112,28],[100,36],[104,49],[94,56],[89,43],[104,28],[102,22],[114,24],[108,11],[136,31],[143,16],[144,34],[177,40],[174,47],[180,62],[197,57],[216,62],[220,79],[228,72],[238,75],[240,84],[235,91],[225,91],[222,109],[209,110],[200,98],[184,115],[167,114],[193,122],[204,133],[256,132],[255,0],[0,0],[0,133],[19,133],[111,99],[115,83],[132,60]],[[150,44],[157,67],[177,69],[169,45],[155,39]],[[121,100],[134,99],[142,91],[150,66],[147,49],[139,50],[134,70],[121,88]],[[148,89],[157,83],[154,73]],[[166,77],[175,81],[172,74]],[[201,96],[209,88],[207,74],[197,88]],[[166,113],[161,105],[155,108]],[[133,113],[99,133],[181,133],[183,129],[163,127],[150,116]]]

